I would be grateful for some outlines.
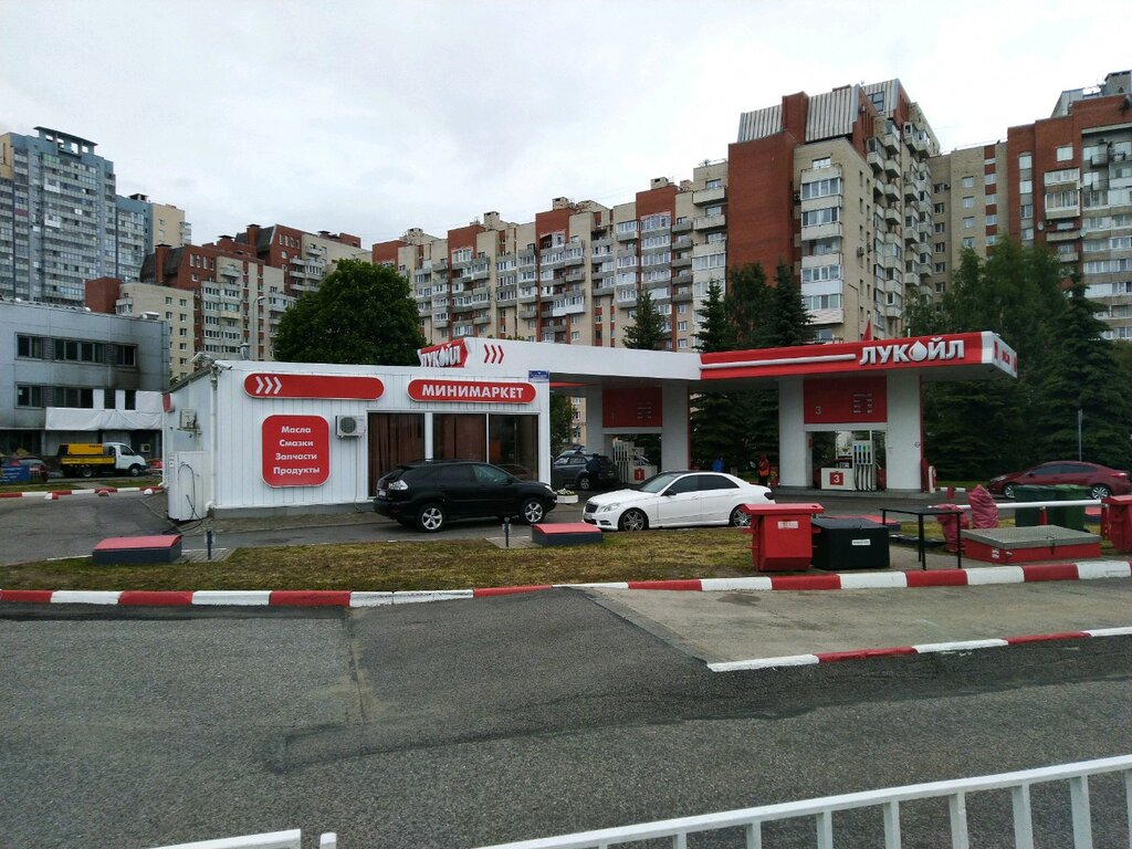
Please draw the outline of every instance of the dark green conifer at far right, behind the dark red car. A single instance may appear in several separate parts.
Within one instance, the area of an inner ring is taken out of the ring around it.
[[[1132,465],[1132,402],[1127,384],[1116,381],[1113,342],[1101,337],[1106,325],[1101,307],[1084,297],[1074,281],[1062,320],[1048,340],[1052,352],[1041,375],[1034,410],[1036,445],[1043,460],[1078,455],[1078,411],[1081,412],[1081,458],[1117,469]]]

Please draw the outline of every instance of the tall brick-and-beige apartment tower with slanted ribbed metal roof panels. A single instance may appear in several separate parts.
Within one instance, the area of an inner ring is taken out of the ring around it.
[[[818,340],[899,336],[931,271],[937,151],[899,79],[744,113],[728,153],[728,265],[791,266]]]

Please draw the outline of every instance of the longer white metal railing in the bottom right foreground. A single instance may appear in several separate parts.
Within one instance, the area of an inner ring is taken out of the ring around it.
[[[817,849],[833,849],[833,814],[857,808],[880,808],[884,824],[885,849],[900,849],[900,805],[920,799],[947,799],[952,849],[968,849],[967,797],[987,790],[1010,790],[1014,822],[1015,849],[1034,849],[1034,814],[1030,787],[1053,781],[1067,781],[1072,815],[1074,849],[1092,849],[1092,815],[1089,805],[1089,777],[1122,773],[1124,779],[1125,817],[1132,831],[1132,755],[1098,761],[1044,766],[1036,770],[1005,772],[998,775],[934,781],[883,790],[826,796],[818,799],[763,805],[719,814],[687,816],[677,820],[626,825],[616,829],[580,832],[557,838],[499,843],[482,849],[608,849],[637,840],[670,840],[672,849],[686,849],[689,834],[741,829],[747,849],[761,849],[763,823],[812,817]],[[942,841],[938,846],[945,846]],[[996,843],[1002,844],[1002,843]]]

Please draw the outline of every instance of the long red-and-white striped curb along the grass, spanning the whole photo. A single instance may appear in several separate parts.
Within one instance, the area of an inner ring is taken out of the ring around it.
[[[911,590],[929,586],[988,586],[1048,581],[1095,581],[1132,577],[1129,560],[989,566],[974,569],[929,572],[867,572],[834,575],[777,575],[755,577],[703,577],[674,581],[618,581],[590,584],[532,584],[488,586],[475,590],[406,590],[362,592],[352,590],[0,590],[0,602],[40,604],[155,604],[239,607],[383,607],[427,601],[482,599],[542,590],[668,590],[677,592]]]

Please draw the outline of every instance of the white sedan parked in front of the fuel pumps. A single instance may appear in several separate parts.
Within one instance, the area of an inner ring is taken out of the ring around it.
[[[722,472],[661,472],[633,489],[594,496],[582,517],[602,530],[643,531],[677,525],[746,528],[744,504],[773,504],[766,487]]]

